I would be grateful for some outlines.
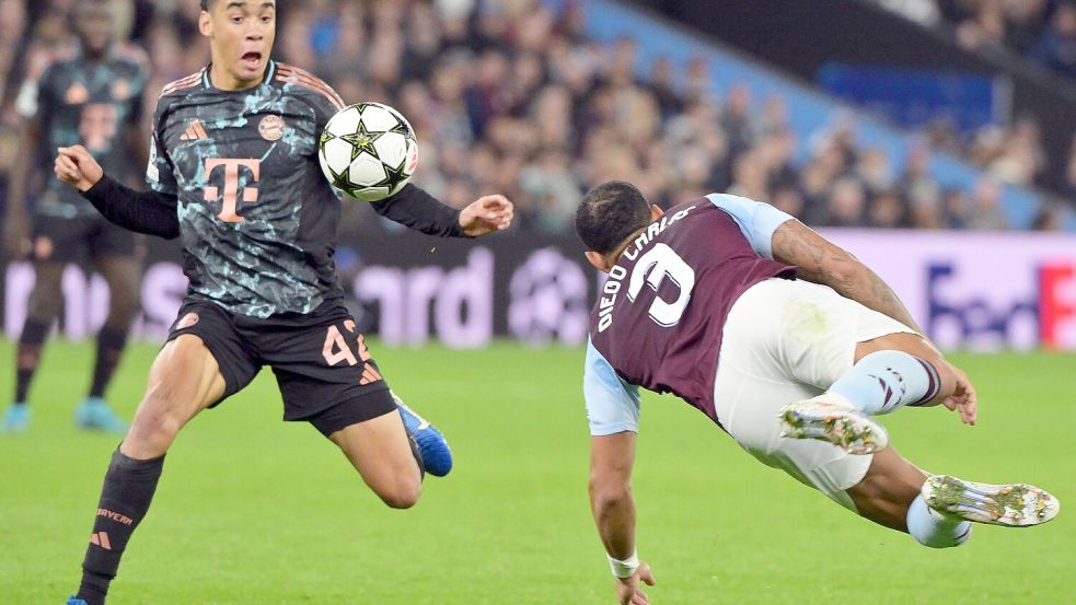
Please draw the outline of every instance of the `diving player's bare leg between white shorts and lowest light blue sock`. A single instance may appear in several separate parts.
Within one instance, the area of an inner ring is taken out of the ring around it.
[[[848,488],[848,497],[860,515],[886,527],[907,531],[907,509],[919,495],[927,475],[904,459],[896,449],[876,453],[867,474]]]

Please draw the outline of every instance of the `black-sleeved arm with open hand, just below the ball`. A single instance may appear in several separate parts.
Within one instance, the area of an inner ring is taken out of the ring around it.
[[[508,229],[512,202],[505,196],[483,196],[463,210],[446,206],[415,185],[371,203],[382,217],[427,235],[477,237]]]

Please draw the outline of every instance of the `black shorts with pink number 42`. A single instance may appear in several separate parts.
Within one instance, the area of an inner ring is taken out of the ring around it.
[[[210,407],[268,365],[284,397],[284,419],[309,421],[326,437],[396,409],[355,321],[337,301],[305,315],[259,319],[187,299],[169,340],[184,334],[201,338],[224,376],[224,395]]]

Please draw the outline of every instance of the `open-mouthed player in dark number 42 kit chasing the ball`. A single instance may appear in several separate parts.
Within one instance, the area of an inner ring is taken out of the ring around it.
[[[338,445],[387,505],[412,507],[424,468],[440,476],[452,465],[441,434],[389,389],[343,304],[333,266],[340,200],[322,176],[317,142],[344,104],[321,80],[269,59],[273,0],[201,0],[198,24],[212,62],[167,85],[158,101],[152,190],[104,175],[82,147],[61,148],[56,158],[57,177],[109,221],[182,237],[189,278],[112,456],[71,605],[104,603],[180,430],[263,365],[276,375],[285,419],[310,422]],[[414,185],[373,207],[441,236],[485,235],[512,220],[502,196],[456,211]]]

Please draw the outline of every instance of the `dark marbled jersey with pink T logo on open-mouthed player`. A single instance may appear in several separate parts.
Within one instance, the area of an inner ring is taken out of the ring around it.
[[[317,140],[344,103],[270,61],[263,83],[222,91],[208,68],[165,86],[147,179],[176,196],[189,294],[233,313],[310,313],[343,298],[333,265],[340,199]]]

